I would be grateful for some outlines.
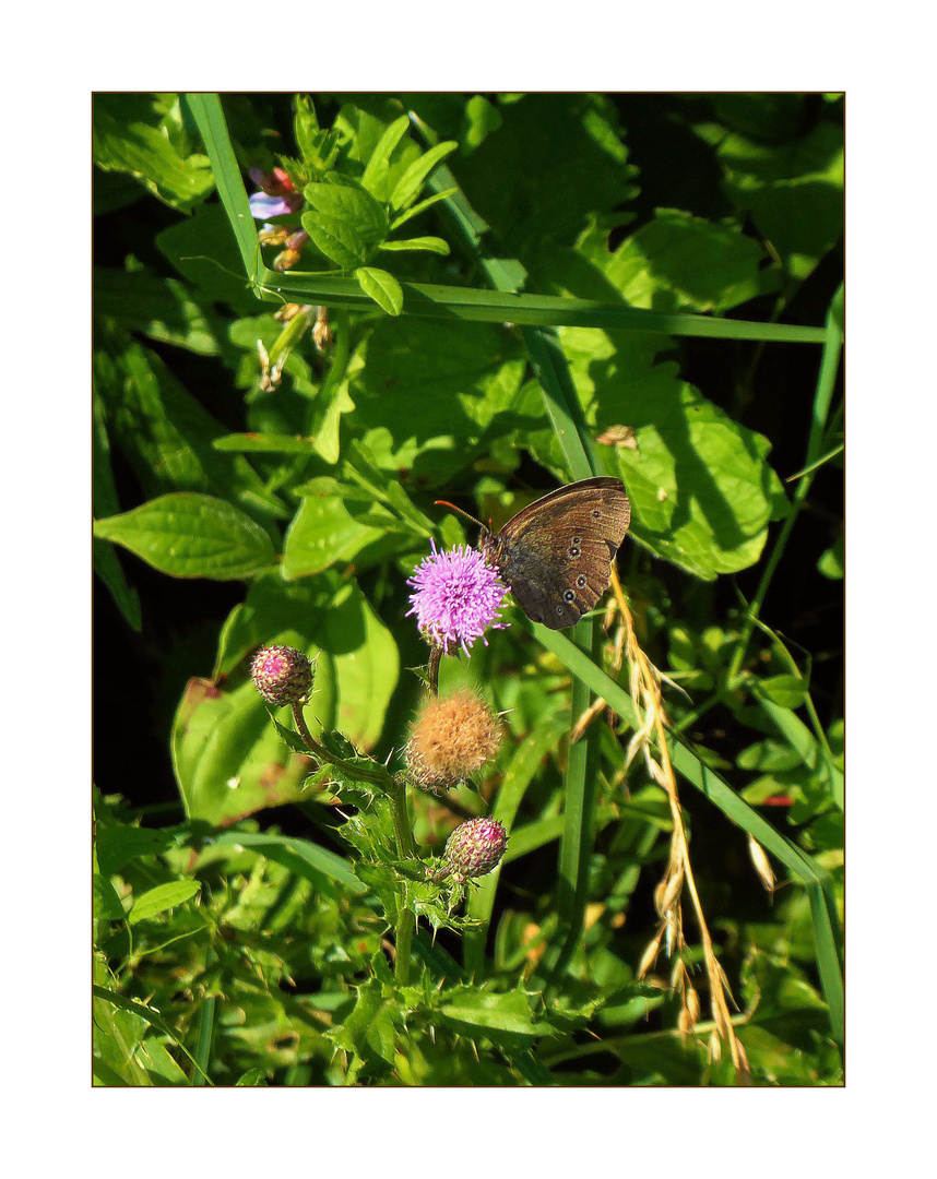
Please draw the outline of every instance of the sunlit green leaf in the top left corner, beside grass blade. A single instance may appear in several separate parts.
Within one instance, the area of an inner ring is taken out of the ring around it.
[[[172,133],[171,112],[155,94],[96,93],[92,127],[98,167],[130,173],[173,209],[188,211],[215,185],[208,157]]]

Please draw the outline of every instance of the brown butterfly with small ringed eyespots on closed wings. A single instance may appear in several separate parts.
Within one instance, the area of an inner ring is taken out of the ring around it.
[[[456,507],[445,500],[437,503]],[[602,477],[550,492],[518,512],[498,533],[480,520],[474,522],[481,528],[480,551],[511,587],[528,618],[562,631],[578,623],[608,588],[611,562],[630,520],[624,485],[620,479]]]

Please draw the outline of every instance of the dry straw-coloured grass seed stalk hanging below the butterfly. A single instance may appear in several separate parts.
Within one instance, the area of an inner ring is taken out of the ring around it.
[[[686,941],[683,937],[683,890],[689,894],[690,903],[702,942],[703,963],[709,979],[709,1006],[715,1026],[709,1040],[709,1059],[721,1058],[721,1042],[729,1049],[736,1076],[741,1084],[751,1084],[751,1072],[745,1049],[735,1036],[732,1026],[728,1003],[732,1001],[728,980],[713,949],[713,940],[696,891],[693,867],[689,858],[689,844],[683,826],[683,812],[680,808],[676,778],[670,764],[667,745],[667,714],[661,698],[661,676],[656,667],[641,650],[635,635],[634,619],[622,592],[621,582],[612,566],[611,584],[615,593],[617,613],[621,619],[623,648],[630,668],[629,687],[631,698],[637,705],[637,729],[628,744],[625,768],[642,755],[651,780],[656,782],[667,795],[670,817],[674,824],[670,836],[670,856],[667,871],[655,891],[655,903],[661,918],[660,927],[647,950],[642,955],[638,977],[643,977],[657,959],[661,943],[664,943],[668,957],[674,961],[671,987],[680,996],[680,1017],[677,1027],[684,1040],[694,1033],[699,1022],[700,1000],[693,987],[689,971],[683,962]],[[620,644],[616,643],[616,648]],[[764,855],[764,852],[762,852]]]

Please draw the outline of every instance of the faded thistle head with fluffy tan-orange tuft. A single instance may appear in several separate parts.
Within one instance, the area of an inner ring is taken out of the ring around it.
[[[470,689],[431,696],[411,730],[407,766],[419,785],[439,793],[480,770],[502,739],[497,718]]]

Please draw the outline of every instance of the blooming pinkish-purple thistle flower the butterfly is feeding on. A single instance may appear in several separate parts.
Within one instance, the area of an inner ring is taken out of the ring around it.
[[[415,614],[421,633],[445,654],[454,647],[467,654],[476,639],[487,645],[485,631],[490,626],[502,630],[507,625],[497,617],[507,586],[468,545],[440,553],[435,541],[430,544],[432,555],[407,579],[415,591],[409,595],[413,608],[407,618]]]

